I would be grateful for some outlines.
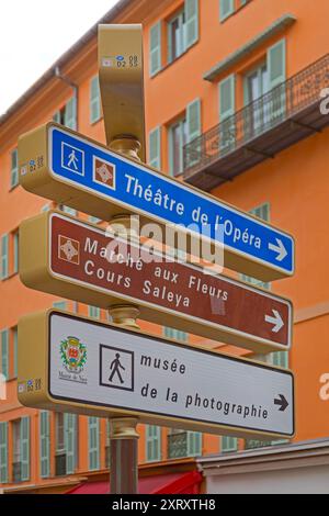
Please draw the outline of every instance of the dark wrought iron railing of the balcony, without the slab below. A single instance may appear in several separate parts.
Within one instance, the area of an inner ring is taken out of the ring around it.
[[[209,166],[320,101],[329,54],[202,134],[183,148],[184,178]]]

